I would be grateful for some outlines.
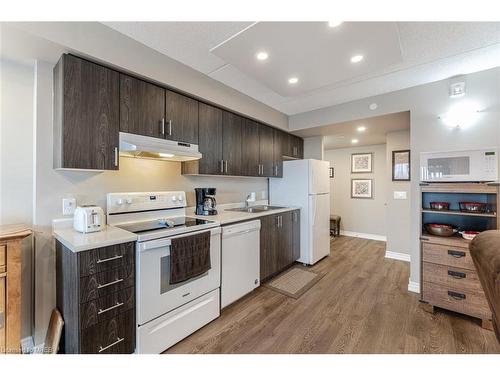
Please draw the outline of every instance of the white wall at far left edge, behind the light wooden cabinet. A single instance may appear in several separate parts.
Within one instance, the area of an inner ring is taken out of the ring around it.
[[[0,225],[31,225],[33,66],[0,60],[0,85]],[[30,236],[22,247],[22,337],[31,336],[31,251]]]

